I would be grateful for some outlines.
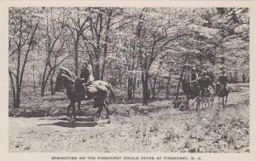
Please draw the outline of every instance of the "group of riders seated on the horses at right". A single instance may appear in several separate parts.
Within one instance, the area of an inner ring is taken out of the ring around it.
[[[189,73],[189,84],[191,91],[198,91],[198,93],[201,91],[202,95],[209,89],[214,91],[216,90],[216,85],[214,84],[214,75],[212,72],[203,71],[201,73],[201,78],[199,78],[199,74],[196,72],[195,67],[192,67]],[[221,73],[218,76],[218,85],[221,87],[221,89],[228,90],[227,84],[228,76],[224,68],[222,68]]]

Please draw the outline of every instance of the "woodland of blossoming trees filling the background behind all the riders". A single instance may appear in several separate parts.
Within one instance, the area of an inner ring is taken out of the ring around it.
[[[59,66],[79,75],[84,60],[118,98],[144,105],[175,95],[189,66],[247,82],[249,9],[9,8],[9,107],[55,95]]]

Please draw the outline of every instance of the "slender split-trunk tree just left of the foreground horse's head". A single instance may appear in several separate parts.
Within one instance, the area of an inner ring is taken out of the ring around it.
[[[48,80],[50,78],[50,89],[51,95],[55,94],[55,90],[53,87],[53,78],[55,74],[55,67],[59,66],[62,61],[66,60],[69,55],[62,56],[61,60],[57,62],[58,57],[60,57],[61,53],[63,52],[65,43],[70,38],[65,34],[67,32],[67,27],[63,24],[56,23],[55,20],[61,21],[62,14],[56,14],[56,9],[53,10],[52,8],[44,9],[46,14],[46,22],[44,24],[45,35],[45,49],[46,49],[46,58],[44,63],[44,72],[43,78],[41,81],[41,96],[44,96],[44,91]],[[49,18],[50,17],[50,18]]]

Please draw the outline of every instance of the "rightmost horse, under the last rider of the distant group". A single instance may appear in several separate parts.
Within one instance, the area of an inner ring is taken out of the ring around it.
[[[229,94],[229,87],[224,88],[224,85],[222,85],[221,83],[216,84],[216,95],[218,96],[218,105],[220,104],[220,98],[222,98],[222,106],[225,107],[227,105]]]

